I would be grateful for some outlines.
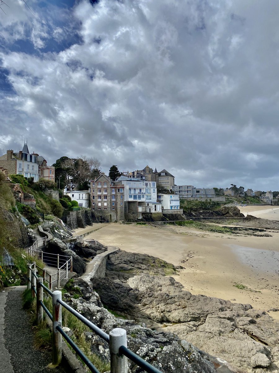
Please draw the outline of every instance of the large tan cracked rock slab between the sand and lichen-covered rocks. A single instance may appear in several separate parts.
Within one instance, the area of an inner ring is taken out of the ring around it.
[[[171,277],[143,274],[129,278],[127,284],[91,281],[109,308],[158,331],[176,333],[237,371],[279,371],[279,323],[249,304],[192,295]]]

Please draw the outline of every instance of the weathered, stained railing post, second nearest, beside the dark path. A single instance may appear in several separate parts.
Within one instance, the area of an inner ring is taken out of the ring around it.
[[[62,327],[62,306],[57,301],[62,300],[61,291],[55,290],[52,293],[52,364],[57,366],[62,359],[62,336],[56,329]]]

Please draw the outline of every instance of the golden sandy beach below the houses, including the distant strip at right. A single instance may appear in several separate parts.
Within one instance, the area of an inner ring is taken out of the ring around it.
[[[245,215],[279,220],[279,208],[276,207],[247,206],[240,209]],[[272,209],[276,209],[278,214],[274,214]],[[172,225],[153,227],[112,223],[94,226],[97,230],[87,238],[183,266],[179,275],[173,277],[192,294],[249,303],[264,311],[279,308],[279,232],[272,232],[272,237],[258,237]],[[236,284],[246,288],[237,288]],[[279,319],[279,311],[269,314]]]

